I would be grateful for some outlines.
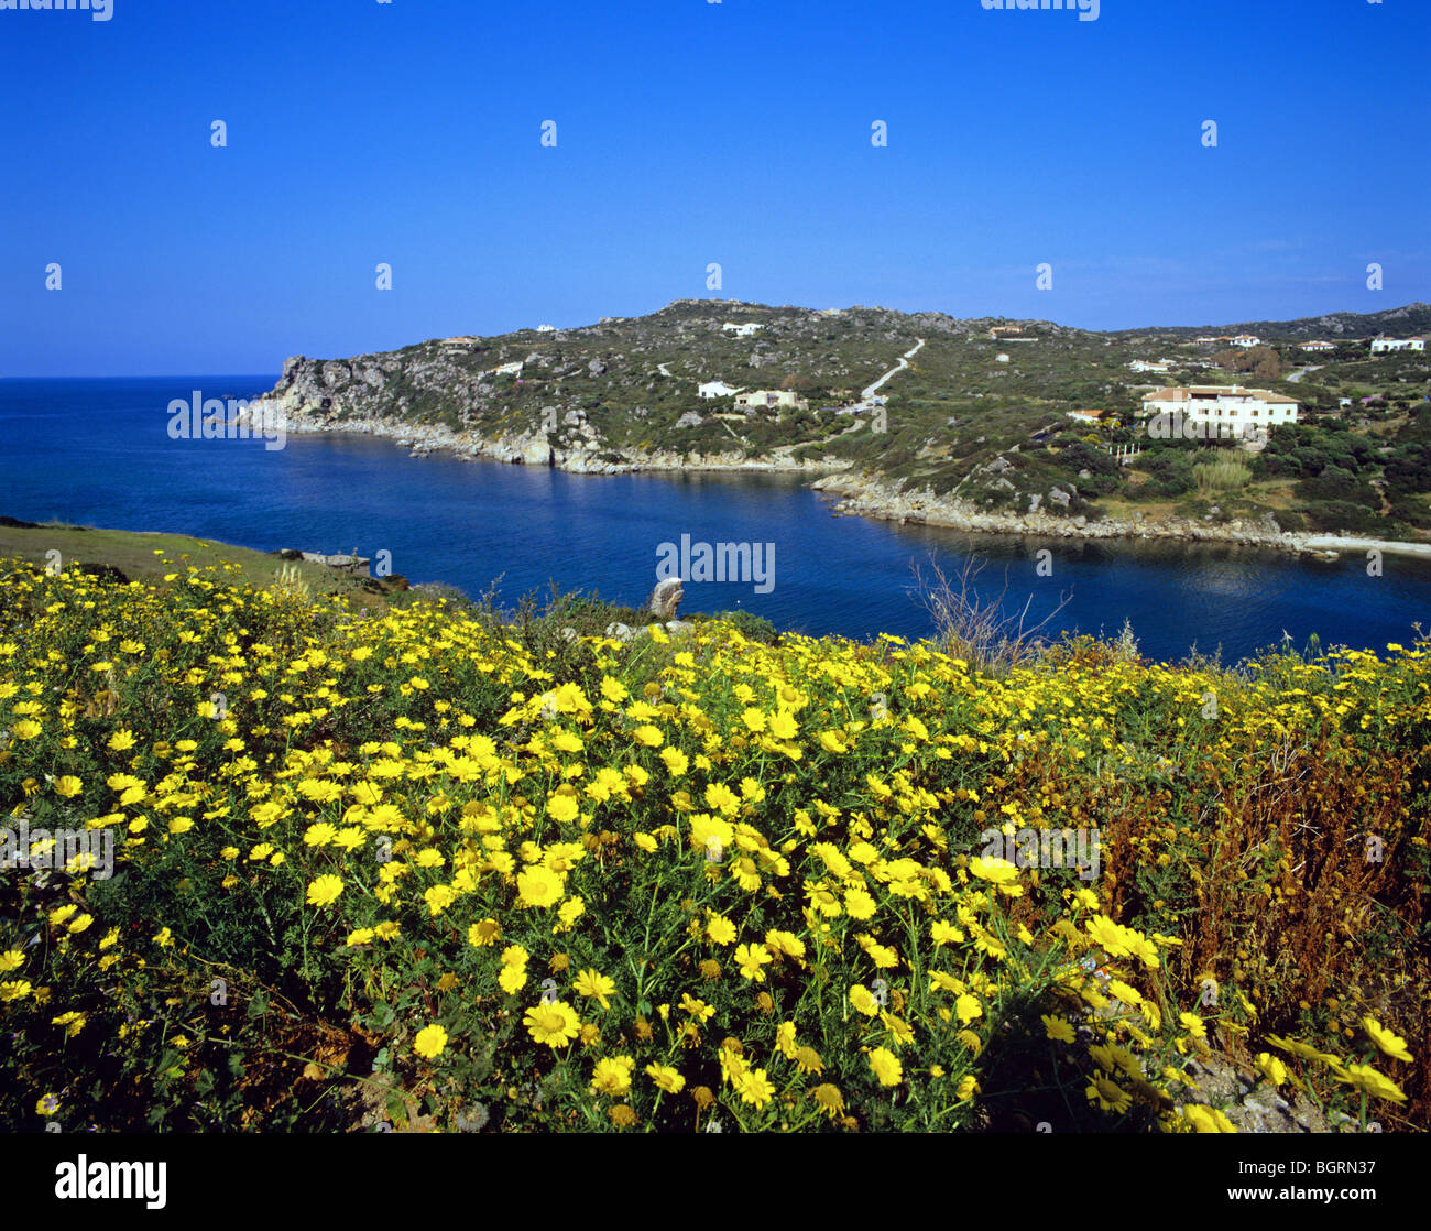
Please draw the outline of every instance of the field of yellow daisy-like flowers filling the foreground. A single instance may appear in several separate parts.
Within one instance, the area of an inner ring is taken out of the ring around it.
[[[986,673],[0,563],[0,1125],[1218,1132],[1216,1055],[1425,1128],[1428,747],[1427,643]]]

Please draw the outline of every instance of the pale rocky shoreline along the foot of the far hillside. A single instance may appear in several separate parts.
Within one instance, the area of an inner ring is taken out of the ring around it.
[[[268,399],[259,399],[240,412],[249,419],[262,415]],[[268,402],[273,411],[286,408]],[[643,454],[640,459],[622,458],[611,461],[597,451],[564,449],[552,447],[545,437],[518,437],[514,439],[484,439],[459,434],[442,424],[402,424],[386,418],[363,418],[353,421],[315,421],[302,412],[285,415],[286,431],[293,435],[366,435],[391,439],[399,448],[408,448],[409,457],[422,458],[441,451],[452,454],[459,461],[498,461],[517,465],[548,467],[565,474],[786,474],[817,475],[804,484],[820,495],[834,500],[830,512],[834,517],[864,517],[871,521],[897,521],[900,525],[930,525],[954,530],[964,534],[1022,535],[1030,538],[1066,540],[1138,540],[1183,544],[1226,544],[1281,551],[1292,555],[1307,555],[1324,561],[1339,560],[1348,553],[1381,551],[1384,554],[1410,555],[1431,561],[1431,542],[1405,540],[1368,538],[1364,535],[1341,535],[1327,532],[1305,532],[1281,530],[1275,521],[1259,522],[1232,521],[1231,524],[1195,522],[1188,518],[1152,521],[1135,518],[1089,520],[1050,517],[1045,512],[987,512],[960,500],[937,497],[932,491],[903,491],[896,484],[864,472],[851,472],[853,462],[840,458],[821,461],[787,461],[783,458],[750,459],[743,451],[716,454],[678,454],[660,449]]]

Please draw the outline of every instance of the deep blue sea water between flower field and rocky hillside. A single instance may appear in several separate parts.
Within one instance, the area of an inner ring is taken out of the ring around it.
[[[773,548],[773,585],[688,583],[683,614],[744,608],[778,628],[869,638],[933,631],[914,568],[985,561],[979,588],[1049,633],[1113,636],[1129,620],[1145,654],[1193,647],[1235,661],[1289,636],[1302,648],[1382,650],[1431,627],[1431,563],[1387,555],[1298,560],[1239,547],[1036,541],[831,517],[794,478],[572,475],[545,468],[411,458],[361,435],[172,439],[169,404],[252,398],[275,375],[0,381],[0,514],[210,537],[265,551],[391,553],[414,583],[477,597],[584,590],[641,603],[661,544]],[[1036,553],[1052,553],[1052,575]],[[758,587],[764,590],[766,587]]]

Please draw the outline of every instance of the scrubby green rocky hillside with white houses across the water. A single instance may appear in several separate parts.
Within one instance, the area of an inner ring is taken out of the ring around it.
[[[758,329],[741,336],[727,325]],[[916,521],[992,515],[1040,531],[1103,521],[1118,532],[1173,524],[1412,540],[1431,537],[1431,362],[1425,352],[1371,356],[1364,339],[1428,325],[1425,303],[1099,334],[1049,321],[678,299],[572,329],[292,358],[256,408],[280,409],[289,431],[378,432],[419,451],[578,472],[803,471],[853,497],[856,511]],[[1239,332],[1264,345],[1192,341]],[[1308,338],[1338,349],[1314,364],[1296,348]],[[867,404],[861,392],[916,346],[881,385],[887,402]],[[1142,375],[1128,366],[1136,359],[1166,359],[1169,369]],[[730,395],[701,398],[698,384],[713,381],[790,391],[801,402],[756,409]],[[1163,384],[1266,388],[1295,396],[1302,421],[1279,429],[1265,454],[1234,458],[1245,468],[1209,477],[1199,467],[1219,445],[1151,441],[1139,428],[1142,395]],[[1119,465],[1112,451],[1126,445],[1141,454]],[[899,492],[933,504],[896,512]]]

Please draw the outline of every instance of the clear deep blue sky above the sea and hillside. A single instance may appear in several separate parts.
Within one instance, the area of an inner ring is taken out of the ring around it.
[[[92,17],[0,11],[0,375],[276,372],[677,298],[1085,328],[1431,299],[1427,0]]]

